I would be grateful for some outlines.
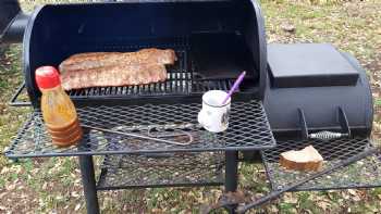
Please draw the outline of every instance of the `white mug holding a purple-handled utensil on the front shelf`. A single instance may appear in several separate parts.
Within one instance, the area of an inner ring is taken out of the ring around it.
[[[222,104],[228,93],[223,90],[210,90],[202,96],[202,109],[198,113],[198,123],[211,133],[221,133],[229,126],[231,99]]]

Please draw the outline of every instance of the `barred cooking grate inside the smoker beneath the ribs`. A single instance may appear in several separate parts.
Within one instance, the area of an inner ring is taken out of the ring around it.
[[[168,42],[168,41],[167,41]],[[196,62],[190,59],[189,41],[186,38],[179,38],[171,41],[172,43],[158,43],[158,41],[147,41],[145,46],[106,46],[84,47],[82,52],[88,51],[135,51],[143,48],[159,47],[172,48],[176,52],[177,61],[174,65],[167,66],[168,79],[163,83],[139,85],[139,86],[121,86],[121,87],[93,87],[85,89],[74,89],[69,91],[73,99],[83,98],[112,98],[112,97],[149,97],[149,96],[174,96],[202,93],[208,90],[229,90],[234,79],[213,79],[205,80],[196,78],[193,75],[196,71]],[[238,90],[239,91],[239,90]]]

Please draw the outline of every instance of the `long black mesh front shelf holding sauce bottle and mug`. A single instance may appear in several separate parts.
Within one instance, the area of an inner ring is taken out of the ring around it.
[[[143,140],[91,129],[77,147],[60,149],[51,144],[46,133],[41,114],[36,112],[21,129],[7,151],[11,158],[115,154],[174,151],[213,150],[258,150],[275,146],[262,103],[260,101],[234,102],[231,108],[229,129],[222,134],[211,134],[197,122],[199,103],[190,104],[144,104],[120,106],[78,108],[83,125],[128,131],[139,135],[179,134],[186,131],[194,137],[188,146],[175,146]],[[171,139],[171,138],[169,138]],[[187,141],[183,136],[172,140]]]

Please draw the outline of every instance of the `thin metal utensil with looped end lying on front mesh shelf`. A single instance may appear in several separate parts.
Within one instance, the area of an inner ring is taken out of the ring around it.
[[[133,134],[133,133],[126,133],[126,131],[121,131],[121,130],[111,130],[111,129],[107,129],[107,128],[99,128],[99,127],[87,126],[87,125],[82,125],[82,127],[94,129],[94,130],[100,130],[100,131],[105,131],[105,133],[111,133],[111,134],[116,134],[116,135],[134,137],[134,138],[152,140],[152,141],[157,141],[157,142],[164,142],[164,143],[168,143],[168,144],[175,144],[175,146],[189,146],[194,141],[194,138],[193,138],[190,133],[185,131],[185,130],[181,130],[181,129],[179,130],[181,134],[156,135],[155,136],[155,135],[151,134],[151,130],[155,129],[156,127],[152,126],[152,127],[148,128],[147,136],[144,136],[144,135],[138,135],[138,134]],[[173,141],[173,140],[161,139],[161,138],[179,137],[179,136],[187,136],[188,137],[188,141],[186,141],[186,142],[177,142],[177,141]]]

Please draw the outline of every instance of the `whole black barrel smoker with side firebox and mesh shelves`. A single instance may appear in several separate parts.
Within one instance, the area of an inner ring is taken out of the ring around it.
[[[381,186],[381,156],[367,152],[374,150],[366,72],[329,43],[268,45],[255,0],[47,4],[32,14],[24,14],[16,0],[2,0],[0,34],[2,42],[23,42],[25,84],[10,104],[34,109],[5,155],[78,156],[88,213],[99,213],[101,190],[224,185],[225,192],[234,192],[242,161],[263,163],[273,197]],[[168,79],[67,91],[85,136],[78,146],[53,147],[41,118],[35,70],[58,66],[74,53],[151,47],[175,50],[179,60],[167,67]],[[206,131],[197,123],[202,93],[229,90],[242,71],[247,76],[233,96],[229,129]],[[30,102],[17,101],[25,89]],[[281,152],[308,144],[324,158],[320,174],[280,167]],[[94,155],[103,162],[95,165]],[[359,159],[360,166],[353,163]],[[348,167],[358,168],[351,174]],[[251,207],[238,205],[225,199],[231,213]]]

